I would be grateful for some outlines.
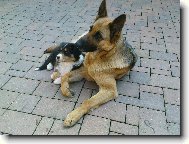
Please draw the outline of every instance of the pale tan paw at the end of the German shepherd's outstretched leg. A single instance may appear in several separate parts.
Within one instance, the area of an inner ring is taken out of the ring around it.
[[[71,127],[73,126],[79,119],[84,115],[83,110],[79,107],[69,113],[64,120],[64,126],[65,127]]]

